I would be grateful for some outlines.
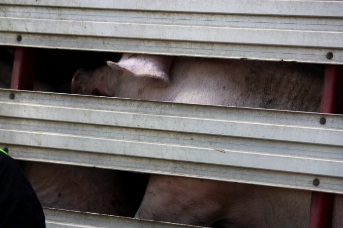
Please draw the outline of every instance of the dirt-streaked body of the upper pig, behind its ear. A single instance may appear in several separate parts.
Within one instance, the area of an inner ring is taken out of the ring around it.
[[[310,64],[179,57],[167,100],[318,112],[323,69]]]

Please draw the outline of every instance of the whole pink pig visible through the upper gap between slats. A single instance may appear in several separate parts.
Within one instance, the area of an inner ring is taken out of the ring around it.
[[[108,61],[108,65],[112,69],[79,69],[72,80],[72,93],[310,112],[320,108],[323,77],[308,65],[178,57],[168,81],[150,71],[123,70],[121,62]]]

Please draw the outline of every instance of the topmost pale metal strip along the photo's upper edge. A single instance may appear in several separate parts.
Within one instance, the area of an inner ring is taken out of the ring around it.
[[[3,4],[13,4],[11,0],[3,0]],[[16,5],[49,6],[49,7],[72,7],[72,8],[96,8],[96,9],[122,9],[144,11],[167,11],[167,12],[204,12],[204,13],[227,13],[227,14],[258,14],[258,15],[289,15],[289,16],[322,16],[341,17],[343,3],[340,1],[239,1],[226,0],[213,4],[207,0],[167,0],[144,2],[127,0],[99,0],[97,2],[85,2],[82,0],[17,0]],[[254,7],[253,7],[254,6]],[[304,10],[306,9],[306,10]]]

